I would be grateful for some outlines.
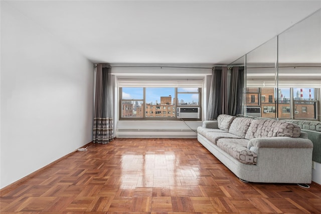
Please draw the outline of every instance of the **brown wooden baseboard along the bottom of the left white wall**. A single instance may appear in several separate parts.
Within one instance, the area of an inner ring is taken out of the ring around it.
[[[84,146],[88,146],[91,143],[92,143],[92,141],[87,143],[87,144],[85,144]],[[79,148],[82,148],[84,146],[81,146]],[[59,159],[57,159],[57,160],[45,165],[44,167],[42,167],[42,168],[40,168],[40,169],[38,169],[38,170],[26,175],[25,177],[23,177],[23,178],[15,181],[15,182],[9,184],[8,186],[3,187],[2,189],[0,189],[0,195],[6,194],[7,192],[9,192],[12,189],[16,188],[17,186],[21,185],[23,182],[26,182],[28,179],[37,176],[39,173],[41,173],[42,171],[46,170],[47,168],[49,168],[49,167],[55,165],[56,163],[59,163],[60,161],[64,160],[65,158],[67,158],[68,156],[70,156],[71,154],[73,154],[76,151],[77,151],[77,149],[75,151],[70,152],[69,154],[66,154],[66,155],[62,156],[61,158],[59,158]]]

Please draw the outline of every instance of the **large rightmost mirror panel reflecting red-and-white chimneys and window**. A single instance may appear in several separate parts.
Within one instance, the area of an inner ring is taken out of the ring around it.
[[[278,43],[279,118],[318,119],[321,11],[280,34]]]

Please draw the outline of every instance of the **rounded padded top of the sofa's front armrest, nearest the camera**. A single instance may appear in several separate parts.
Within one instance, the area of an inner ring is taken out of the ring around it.
[[[247,148],[313,148],[313,143],[309,139],[300,137],[261,137],[251,139]]]

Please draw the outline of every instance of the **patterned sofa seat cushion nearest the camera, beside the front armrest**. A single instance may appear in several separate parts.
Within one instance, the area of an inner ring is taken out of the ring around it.
[[[226,153],[245,164],[256,164],[257,154],[247,148],[247,139],[222,138],[217,141],[217,146]]]

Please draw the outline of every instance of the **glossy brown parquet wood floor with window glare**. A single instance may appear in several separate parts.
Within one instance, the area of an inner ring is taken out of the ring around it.
[[[321,213],[321,186],[243,183],[197,139],[89,144],[1,193],[1,213]]]

